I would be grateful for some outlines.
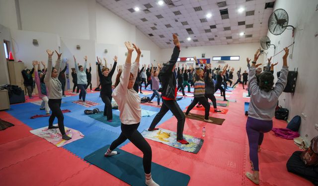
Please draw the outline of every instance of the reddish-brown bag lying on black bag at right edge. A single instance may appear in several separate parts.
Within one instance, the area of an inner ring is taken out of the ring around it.
[[[302,152],[300,158],[303,160],[306,166],[318,165],[318,136],[311,140],[309,148]]]

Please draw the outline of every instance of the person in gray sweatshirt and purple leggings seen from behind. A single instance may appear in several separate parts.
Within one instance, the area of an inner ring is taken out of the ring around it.
[[[252,173],[246,172],[246,177],[253,183],[259,184],[258,154],[262,144],[264,133],[269,132],[273,127],[272,118],[274,117],[277,101],[287,84],[288,65],[287,56],[289,49],[284,48],[283,67],[280,77],[274,85],[274,76],[271,72],[264,71],[259,75],[259,84],[255,76],[256,61],[260,56],[259,49],[254,55],[254,61],[249,68],[248,88],[250,91],[250,103],[248,107],[248,118],[246,122],[246,133],[249,145],[249,159]]]

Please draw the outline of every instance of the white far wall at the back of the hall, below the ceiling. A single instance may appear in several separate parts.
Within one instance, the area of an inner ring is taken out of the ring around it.
[[[242,68],[242,71],[247,69],[246,58],[254,58],[255,51],[259,48],[259,43],[245,43],[245,44],[232,44],[232,45],[215,45],[215,46],[203,46],[203,47],[188,47],[183,48],[181,44],[181,52],[179,57],[194,57],[201,59],[201,55],[205,54],[205,58],[211,59],[211,64],[217,67],[219,64],[224,66],[229,64],[235,68],[235,71]],[[162,49],[160,62],[167,62],[171,58],[173,49]],[[217,56],[239,56],[239,61],[225,61],[218,62],[212,61],[212,57]],[[265,55],[260,56],[259,62],[262,62]],[[234,80],[238,79],[236,73],[234,73]]]

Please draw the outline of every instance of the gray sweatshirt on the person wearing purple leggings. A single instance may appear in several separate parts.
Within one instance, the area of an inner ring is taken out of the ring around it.
[[[248,87],[250,91],[250,103],[248,107],[248,117],[271,121],[275,114],[278,98],[287,84],[288,66],[283,66],[275,87],[269,92],[259,89],[255,71],[255,66],[249,68]]]

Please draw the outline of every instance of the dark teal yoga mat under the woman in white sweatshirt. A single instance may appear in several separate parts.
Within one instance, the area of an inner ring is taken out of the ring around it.
[[[87,155],[84,160],[131,186],[146,186],[143,159],[121,149],[118,155],[104,157],[109,145]],[[151,174],[160,186],[187,186],[190,176],[152,163]],[[107,184],[106,184],[107,185]]]

